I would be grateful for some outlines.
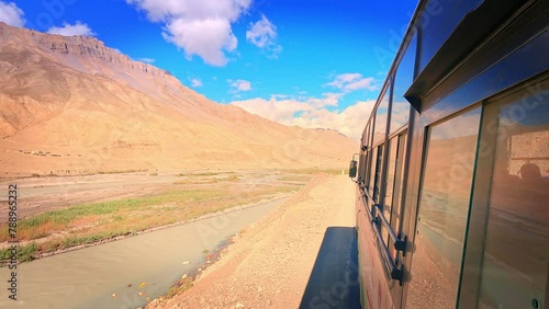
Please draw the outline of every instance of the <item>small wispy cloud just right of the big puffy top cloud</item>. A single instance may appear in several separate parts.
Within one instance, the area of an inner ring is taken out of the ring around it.
[[[256,23],[251,23],[246,31],[246,39],[257,47],[268,50],[270,57],[278,58],[278,54],[282,52],[282,46],[277,44],[277,26],[271,23],[265,15]]]

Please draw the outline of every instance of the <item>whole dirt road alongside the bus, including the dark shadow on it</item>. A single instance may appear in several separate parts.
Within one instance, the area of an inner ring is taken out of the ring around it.
[[[356,308],[354,209],[348,178],[317,175],[238,234],[193,287],[147,308]]]

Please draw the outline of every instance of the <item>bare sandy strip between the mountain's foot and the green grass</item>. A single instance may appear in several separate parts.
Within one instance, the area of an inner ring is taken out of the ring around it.
[[[179,173],[187,176],[178,176]],[[192,176],[193,173],[204,174]],[[212,175],[208,175],[212,173]],[[250,187],[253,185],[268,184],[281,185],[283,183],[303,183],[305,180],[296,182],[281,181],[283,178],[293,176],[289,173],[278,171],[159,171],[158,175],[152,176],[150,172],[135,173],[113,173],[113,174],[93,174],[93,175],[72,175],[72,176],[42,176],[26,178],[10,181],[0,181],[1,187],[8,187],[9,184],[18,185],[19,208],[18,216],[25,218],[48,210],[74,206],[83,203],[96,203],[131,197],[149,196],[159,194],[168,190],[191,188],[213,188],[216,186],[227,186],[226,183],[208,183],[209,180],[223,179],[231,175],[238,176],[238,182],[232,182],[229,185],[239,187]],[[184,185],[175,185],[175,183],[184,180],[197,181]],[[203,184],[200,181],[205,181]],[[8,196],[0,196],[0,222],[8,220]]]

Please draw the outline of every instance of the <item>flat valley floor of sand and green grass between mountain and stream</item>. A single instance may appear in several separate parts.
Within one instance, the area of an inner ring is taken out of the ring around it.
[[[0,186],[18,185],[18,258],[26,262],[288,196],[316,172],[147,171],[34,176]],[[7,196],[0,206],[1,264],[9,256]]]

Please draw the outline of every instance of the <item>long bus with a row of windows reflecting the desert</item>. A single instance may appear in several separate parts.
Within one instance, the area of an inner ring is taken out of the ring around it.
[[[549,308],[548,16],[419,1],[349,169],[365,308]]]

